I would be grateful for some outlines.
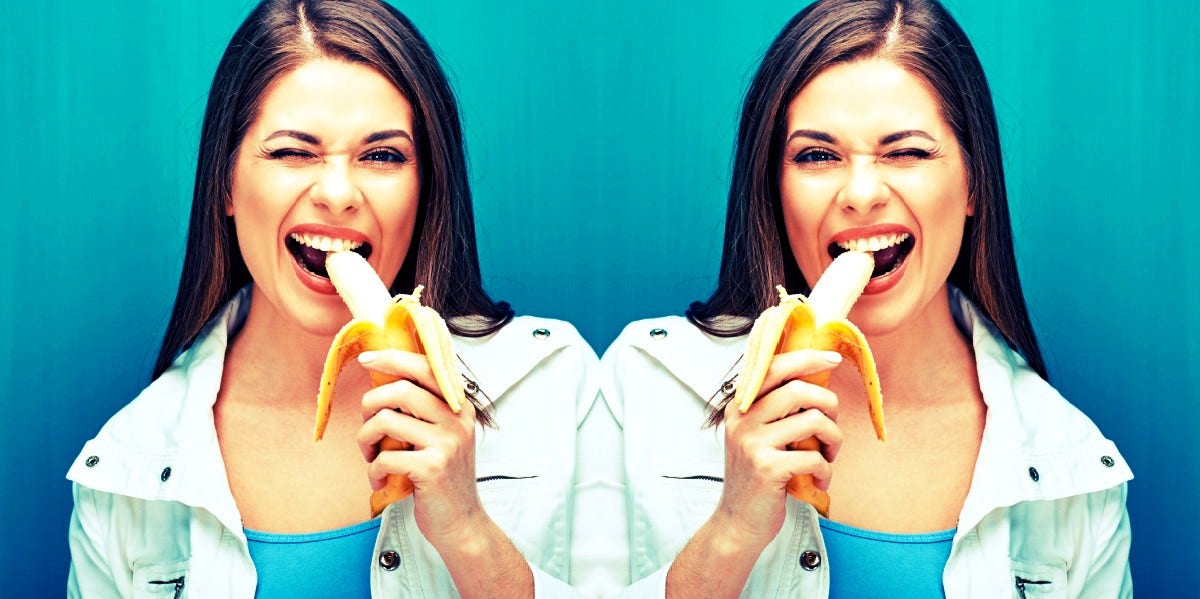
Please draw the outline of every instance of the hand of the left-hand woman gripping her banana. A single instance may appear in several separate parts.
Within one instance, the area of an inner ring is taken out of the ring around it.
[[[413,481],[416,526],[434,547],[478,539],[493,526],[475,489],[475,409],[464,402],[455,414],[442,399],[425,355],[384,349],[364,361],[370,370],[401,377],[362,396],[359,449],[371,462],[371,487],[390,474]],[[410,450],[380,451],[384,437],[412,443]]]

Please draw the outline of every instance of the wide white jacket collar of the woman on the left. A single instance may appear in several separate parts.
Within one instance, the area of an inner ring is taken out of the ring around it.
[[[241,531],[217,444],[212,406],[226,349],[250,309],[239,290],[172,366],[84,444],[67,472],[83,486],[145,501],[175,501],[211,511]],[[578,335],[557,321],[518,317],[488,337],[454,337],[460,366],[492,403]],[[469,370],[468,370],[469,369]],[[316,382],[313,396],[316,397]]]

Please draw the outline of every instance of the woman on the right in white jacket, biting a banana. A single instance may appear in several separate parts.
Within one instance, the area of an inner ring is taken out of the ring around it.
[[[1127,597],[1128,466],[1045,381],[1018,281],[996,119],[934,0],[820,0],[746,95],[716,290],[630,324],[602,365],[623,429],[630,594]],[[775,357],[728,405],[775,284],[871,251],[850,319],[888,441],[836,354]],[[714,414],[715,412],[715,414]],[[702,430],[706,417],[724,432]],[[820,450],[788,451],[815,437]],[[785,492],[812,474],[829,519]]]

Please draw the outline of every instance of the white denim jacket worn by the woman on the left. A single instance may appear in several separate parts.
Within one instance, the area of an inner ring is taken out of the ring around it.
[[[226,346],[248,304],[247,288],[71,466],[68,597],[254,595],[212,420]],[[484,507],[528,559],[536,597],[576,595],[563,581],[598,576],[594,563],[574,561],[571,551],[576,437],[598,394],[595,353],[570,324],[533,317],[454,341],[499,424],[476,433]],[[416,527],[412,497],[384,511],[374,556],[362,564],[372,597],[456,595]]]

